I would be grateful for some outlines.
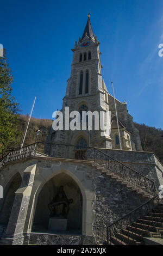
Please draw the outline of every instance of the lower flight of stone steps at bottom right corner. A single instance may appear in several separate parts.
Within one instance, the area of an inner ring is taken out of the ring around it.
[[[111,236],[110,245],[145,245],[143,237],[163,237],[163,204]]]

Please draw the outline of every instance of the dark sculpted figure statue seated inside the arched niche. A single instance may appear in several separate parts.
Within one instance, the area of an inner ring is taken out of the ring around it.
[[[48,208],[51,212],[50,217],[55,218],[67,218],[68,212],[70,210],[70,204],[73,199],[67,199],[64,192],[64,187],[60,186],[56,196],[53,198],[52,202],[48,204]]]

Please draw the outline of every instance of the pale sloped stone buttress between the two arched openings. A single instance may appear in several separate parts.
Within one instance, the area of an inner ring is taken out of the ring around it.
[[[15,199],[12,206],[9,223],[4,237],[1,238],[3,245],[22,245],[23,231],[26,223],[27,210],[32,192],[36,164],[28,166],[24,170],[22,185],[15,192]]]

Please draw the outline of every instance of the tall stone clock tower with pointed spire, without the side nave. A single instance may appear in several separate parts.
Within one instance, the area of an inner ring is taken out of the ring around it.
[[[105,96],[105,83],[102,80],[102,65],[101,52],[99,51],[99,41],[97,36],[93,34],[90,15],[88,15],[86,27],[78,42],[75,42],[71,68],[71,76],[67,80],[66,95],[63,99],[61,112],[63,114],[65,107],[69,107],[70,112],[78,111],[109,111],[109,103]],[[100,119],[99,119],[100,120]],[[95,130],[95,125],[92,127],[87,125],[85,131],[54,131],[51,130],[51,135],[48,137],[48,142],[68,144],[68,145],[87,145],[90,147],[111,148],[111,138],[109,135],[102,136],[102,130]],[[106,125],[106,118],[104,119]],[[107,124],[109,125],[109,124]],[[89,131],[90,129],[90,131]]]

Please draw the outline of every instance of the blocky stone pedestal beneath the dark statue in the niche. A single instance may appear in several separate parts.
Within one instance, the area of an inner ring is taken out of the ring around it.
[[[49,218],[48,231],[67,231],[67,219]]]

